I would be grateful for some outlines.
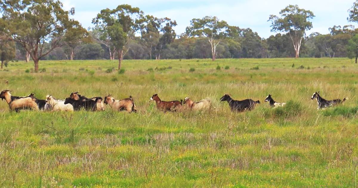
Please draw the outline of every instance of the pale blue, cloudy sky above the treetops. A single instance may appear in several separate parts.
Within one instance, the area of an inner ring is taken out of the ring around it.
[[[144,14],[158,18],[168,17],[178,24],[175,32],[181,34],[193,18],[217,16],[229,25],[251,28],[262,38],[272,33],[271,23],[267,20],[271,14],[279,15],[287,5],[299,5],[300,8],[313,11],[313,29],[307,32],[329,33],[334,25],[358,24],[347,21],[347,10],[354,0],[61,0],[64,9],[75,8],[74,19],[84,28],[93,27],[92,19],[102,9],[115,9],[120,4],[129,4],[144,11]]]

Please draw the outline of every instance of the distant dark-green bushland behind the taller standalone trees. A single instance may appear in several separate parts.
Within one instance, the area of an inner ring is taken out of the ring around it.
[[[271,35],[261,38],[250,28],[237,28],[238,34],[223,39],[217,46],[216,58],[289,58],[295,57],[295,49],[288,34]],[[348,57],[348,43],[358,29],[352,25],[333,26],[330,34],[312,33],[304,37],[300,57]],[[92,35],[93,31],[89,31]],[[93,40],[92,43],[82,43],[74,48],[73,59],[111,59],[109,48]],[[25,60],[26,52],[16,45],[16,59]],[[153,51],[152,51],[153,52]],[[115,53],[115,52],[114,52]],[[156,59],[150,57],[151,50],[141,37],[134,37],[128,44],[124,59]],[[351,54],[350,54],[351,55]],[[114,54],[115,59],[118,59]],[[182,34],[172,43],[166,45],[160,54],[161,59],[192,59],[212,58],[208,40],[203,37],[188,37]],[[60,47],[53,50],[42,59],[66,60],[71,59],[71,50]]]

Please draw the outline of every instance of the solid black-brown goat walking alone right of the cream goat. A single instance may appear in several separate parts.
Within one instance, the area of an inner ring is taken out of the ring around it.
[[[255,109],[256,104],[260,104],[260,101],[254,101],[252,99],[245,99],[243,101],[235,101],[229,94],[225,94],[220,98],[220,101],[227,101],[231,108],[231,111],[243,112],[245,110]]]

